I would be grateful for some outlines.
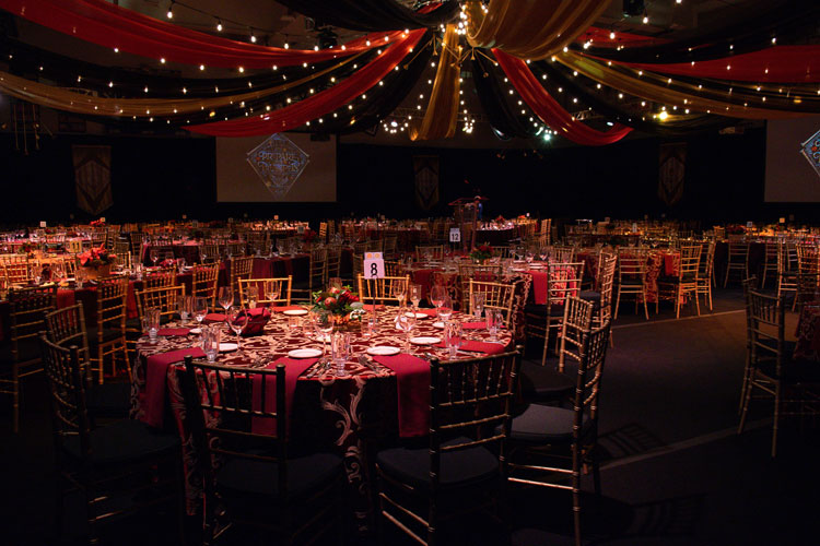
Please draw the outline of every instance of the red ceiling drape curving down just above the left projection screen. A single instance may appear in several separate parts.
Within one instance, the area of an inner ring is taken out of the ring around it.
[[[258,136],[295,129],[341,108],[366,93],[412,51],[425,32],[424,28],[410,31],[406,37],[382,51],[382,55],[351,76],[304,100],[261,116],[203,123],[186,129],[213,136]]]

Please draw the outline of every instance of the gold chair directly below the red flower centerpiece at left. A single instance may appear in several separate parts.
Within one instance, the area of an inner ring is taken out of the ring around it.
[[[105,360],[110,357],[112,375],[117,375],[117,355],[122,358],[128,377],[131,363],[126,347],[126,298],[128,277],[109,276],[97,280],[97,325],[92,331],[91,343],[95,349],[97,382],[105,381]]]

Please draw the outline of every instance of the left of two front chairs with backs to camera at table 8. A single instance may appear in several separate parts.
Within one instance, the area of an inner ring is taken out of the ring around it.
[[[283,364],[246,369],[188,356],[183,395],[204,489],[202,544],[213,543],[224,520],[258,527],[271,544],[340,532],[342,461],[291,453]]]

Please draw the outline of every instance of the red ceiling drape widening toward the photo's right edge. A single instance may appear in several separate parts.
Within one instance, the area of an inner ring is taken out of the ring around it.
[[[607,61],[608,59],[602,59]],[[775,46],[708,61],[654,64],[618,62],[637,70],[737,82],[820,82],[820,46]],[[728,67],[728,68],[727,68]]]

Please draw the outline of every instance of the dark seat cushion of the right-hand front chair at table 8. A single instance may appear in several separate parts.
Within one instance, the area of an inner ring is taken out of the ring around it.
[[[454,438],[452,446],[467,441]],[[386,475],[419,489],[430,489],[430,449],[393,448],[376,454],[376,463]],[[491,482],[500,475],[499,458],[487,448],[477,447],[448,451],[441,455],[440,486],[469,487]]]

